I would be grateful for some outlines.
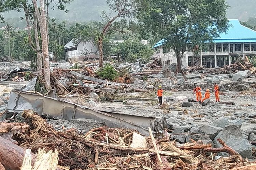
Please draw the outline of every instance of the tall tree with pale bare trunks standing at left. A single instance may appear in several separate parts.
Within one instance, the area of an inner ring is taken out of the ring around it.
[[[37,53],[37,74],[42,75],[42,59],[44,64],[44,79],[46,86],[51,88],[50,68],[49,68],[49,5],[53,3],[59,10],[67,12],[64,4],[70,3],[73,0],[39,0],[40,8],[38,8],[37,0],[32,0],[32,4],[28,0],[2,0],[0,3],[0,14],[16,10],[17,12],[24,11],[28,42],[30,47]],[[54,6],[52,7],[54,8]],[[23,17],[21,17],[23,19]],[[4,22],[4,18],[0,15],[0,20]],[[33,26],[33,27],[31,27]],[[31,28],[34,31],[34,39],[31,36]],[[39,41],[41,36],[41,46]]]

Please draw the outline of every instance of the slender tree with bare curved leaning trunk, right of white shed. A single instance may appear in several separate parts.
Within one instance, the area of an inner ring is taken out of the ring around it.
[[[99,49],[99,66],[103,67],[103,39],[106,33],[110,30],[113,23],[118,18],[131,17],[136,12],[137,3],[136,0],[107,0],[111,14],[102,12],[102,17],[106,21],[101,33],[98,35],[97,45]],[[114,17],[112,17],[114,16]]]

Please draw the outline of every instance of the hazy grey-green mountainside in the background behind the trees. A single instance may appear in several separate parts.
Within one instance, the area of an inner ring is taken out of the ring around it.
[[[256,17],[256,0],[227,0],[230,8],[227,11],[229,19],[239,19],[240,21],[247,21],[250,17]],[[50,10],[50,17],[56,18],[58,21],[67,21],[68,24],[74,22],[86,22],[90,20],[101,21],[101,11],[109,11],[106,0],[74,0],[67,5],[68,13],[59,11],[58,9]],[[24,21],[19,20],[22,13],[13,11],[4,14],[5,20],[12,23],[14,27],[26,27]],[[0,27],[3,24],[0,24]]]

